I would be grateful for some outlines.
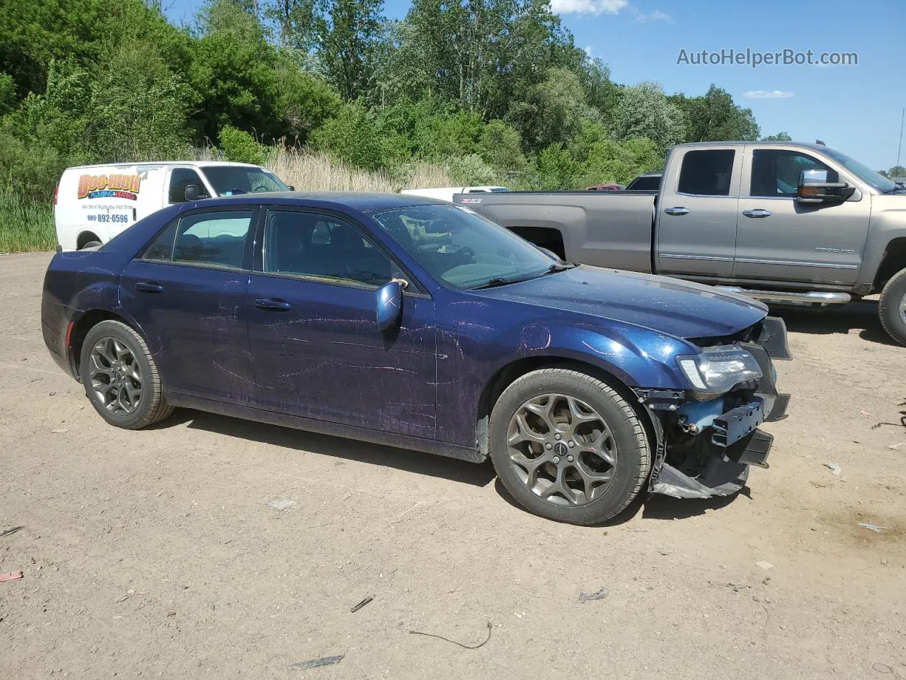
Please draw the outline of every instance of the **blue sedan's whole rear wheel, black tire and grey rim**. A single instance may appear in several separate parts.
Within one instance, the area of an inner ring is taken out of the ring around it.
[[[88,399],[111,425],[139,430],[173,413],[148,345],[130,326],[112,320],[93,326],[80,366]]]

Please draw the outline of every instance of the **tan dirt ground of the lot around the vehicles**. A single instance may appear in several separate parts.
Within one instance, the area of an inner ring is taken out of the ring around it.
[[[518,510],[489,464],[187,411],[104,424],[43,346],[49,257],[0,257],[4,680],[906,678],[906,428],[874,427],[906,411],[906,348],[874,303],[784,315],[790,417],[744,493],[588,529]],[[410,634],[488,624],[477,649]]]

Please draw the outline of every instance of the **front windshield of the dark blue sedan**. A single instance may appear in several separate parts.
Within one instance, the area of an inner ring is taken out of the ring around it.
[[[516,283],[539,277],[555,265],[528,241],[463,206],[410,206],[371,217],[449,287]]]

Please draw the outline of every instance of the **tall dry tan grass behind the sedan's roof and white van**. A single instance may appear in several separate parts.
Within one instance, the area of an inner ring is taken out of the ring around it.
[[[195,160],[220,160],[219,151],[203,147],[193,152]],[[404,165],[392,174],[369,172],[346,165],[326,153],[274,146],[267,150],[268,170],[300,191],[384,191],[456,184],[447,168],[423,161]]]

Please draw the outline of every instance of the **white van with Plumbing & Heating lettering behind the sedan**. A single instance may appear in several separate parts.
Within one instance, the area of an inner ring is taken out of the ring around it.
[[[219,160],[67,168],[53,195],[57,250],[100,246],[155,210],[174,203],[290,190],[270,170]]]

